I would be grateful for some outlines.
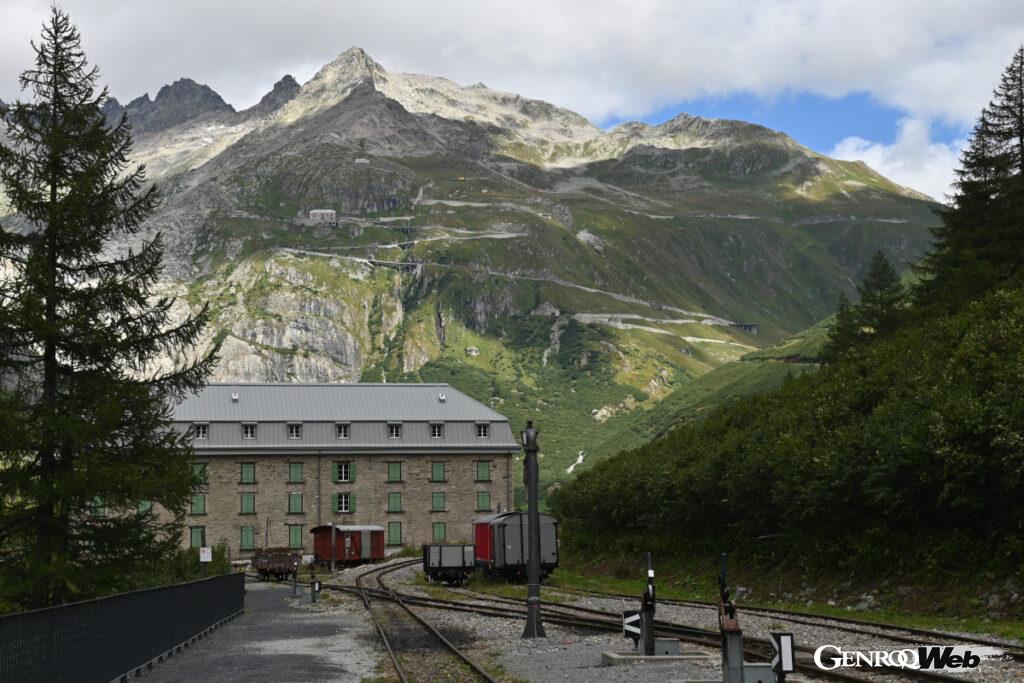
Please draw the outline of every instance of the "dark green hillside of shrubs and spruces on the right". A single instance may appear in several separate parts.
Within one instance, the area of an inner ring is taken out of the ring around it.
[[[858,302],[840,302],[819,370],[557,490],[570,553],[713,558],[740,548],[753,564],[805,572],[1019,573],[1024,48],[939,213],[911,278],[878,254]]]

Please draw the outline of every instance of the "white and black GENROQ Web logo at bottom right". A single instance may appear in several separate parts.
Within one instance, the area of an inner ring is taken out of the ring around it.
[[[1001,655],[1002,650],[995,647],[970,645],[922,645],[899,650],[845,650],[838,645],[822,645],[814,650],[814,664],[823,671],[855,667],[939,671],[977,669],[982,659]]]

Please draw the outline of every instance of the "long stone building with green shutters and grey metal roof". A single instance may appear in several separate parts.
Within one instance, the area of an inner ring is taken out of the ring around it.
[[[378,524],[390,546],[471,543],[510,509],[508,419],[446,384],[211,384],[174,409],[206,483],[182,544],[312,552],[319,524]]]

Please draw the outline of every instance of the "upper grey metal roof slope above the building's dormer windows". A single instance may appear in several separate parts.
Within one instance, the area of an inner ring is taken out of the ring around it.
[[[176,405],[174,420],[508,422],[447,384],[210,384]]]

